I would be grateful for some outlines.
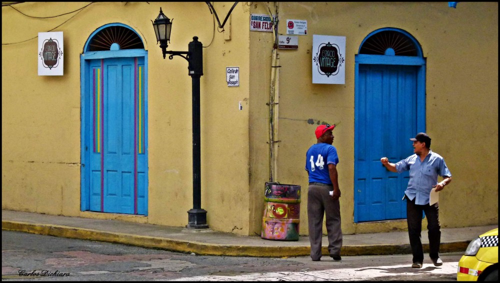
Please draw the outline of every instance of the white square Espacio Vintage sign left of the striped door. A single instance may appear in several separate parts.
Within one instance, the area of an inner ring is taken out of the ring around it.
[[[38,75],[64,74],[62,31],[38,32]]]

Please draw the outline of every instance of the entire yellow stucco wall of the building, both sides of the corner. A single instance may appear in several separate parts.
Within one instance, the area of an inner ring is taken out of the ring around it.
[[[88,2],[24,2],[34,16],[52,16]],[[222,21],[233,2],[215,2]],[[210,228],[260,233],[269,180],[268,120],[272,33],[249,31],[250,13],[275,12],[273,2],[240,2],[230,28],[213,26],[204,2],[95,2],[79,13],[35,19],[2,7],[2,208],[184,226],[192,208],[191,78],[187,62],[163,59],[150,19],[159,7],[173,18],[169,50],[203,43],[201,207]],[[194,15],[194,16],[193,16]],[[72,17],[74,16],[74,17]],[[426,131],[432,150],[453,174],[440,196],[441,225],[498,221],[498,3],[279,2],[286,19],[307,20],[297,50],[278,50],[277,175],[302,187],[300,233],[307,234],[304,154],[315,142],[312,119],[335,123],[342,230],[404,229],[404,220],[353,223],[354,55],[371,31],[412,34],[426,58]],[[70,19],[70,17],[72,17]],[[64,75],[37,75],[37,32],[64,32]],[[80,54],[100,26],[120,22],[148,51],[148,216],[80,211]],[[22,23],[22,24],[21,24]],[[230,29],[230,31],[229,31]],[[346,36],[345,84],[311,83],[312,34]],[[230,39],[229,39],[230,37]],[[225,67],[239,66],[240,86],[227,87]],[[242,101],[243,109],[237,108]],[[411,143],[408,142],[408,147]],[[470,211],[470,212],[464,212]]]

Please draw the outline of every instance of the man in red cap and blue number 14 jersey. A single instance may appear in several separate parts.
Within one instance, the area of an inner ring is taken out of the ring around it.
[[[333,143],[332,130],[335,125],[319,125],[315,134],[317,143],[306,153],[305,170],[309,174],[307,191],[307,219],[309,221],[309,241],[311,259],[321,258],[321,238],[323,235],[323,214],[326,214],[328,252],[333,260],[341,260],[342,230],[340,228],[340,189],[338,188],[337,149]]]

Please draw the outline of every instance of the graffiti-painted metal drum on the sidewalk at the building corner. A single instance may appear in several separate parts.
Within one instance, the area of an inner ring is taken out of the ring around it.
[[[271,240],[298,240],[300,185],[267,182],[264,200],[260,237]]]

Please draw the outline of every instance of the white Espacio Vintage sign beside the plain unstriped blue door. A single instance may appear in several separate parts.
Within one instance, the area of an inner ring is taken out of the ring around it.
[[[345,36],[312,35],[312,83],[345,83]]]

